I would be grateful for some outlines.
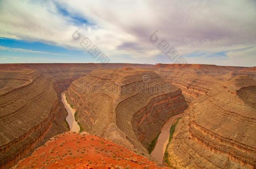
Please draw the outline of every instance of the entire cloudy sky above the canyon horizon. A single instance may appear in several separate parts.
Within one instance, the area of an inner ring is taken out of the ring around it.
[[[0,63],[103,62],[256,66],[256,0],[0,0]]]

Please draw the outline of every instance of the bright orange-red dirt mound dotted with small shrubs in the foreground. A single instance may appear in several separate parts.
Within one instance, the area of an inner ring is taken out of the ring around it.
[[[87,133],[66,132],[53,137],[31,156],[22,159],[17,169],[157,169],[146,157]]]

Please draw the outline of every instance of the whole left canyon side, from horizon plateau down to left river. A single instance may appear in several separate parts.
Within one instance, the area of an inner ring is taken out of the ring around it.
[[[97,68],[102,65],[0,64],[0,168],[13,166],[52,136],[69,130],[60,93]]]

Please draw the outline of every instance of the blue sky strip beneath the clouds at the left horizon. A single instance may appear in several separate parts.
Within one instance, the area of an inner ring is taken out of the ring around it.
[[[68,50],[41,42],[0,38],[0,63],[95,62],[86,51]]]

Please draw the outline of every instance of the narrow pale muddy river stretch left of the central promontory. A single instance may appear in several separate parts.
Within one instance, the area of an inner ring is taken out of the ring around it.
[[[71,106],[68,104],[68,101],[65,96],[65,92],[61,93],[61,101],[65,106],[65,109],[68,111],[68,116],[66,117],[66,121],[68,122],[70,131],[79,132],[80,127],[77,124],[77,121],[75,120],[75,110],[71,108]]]

